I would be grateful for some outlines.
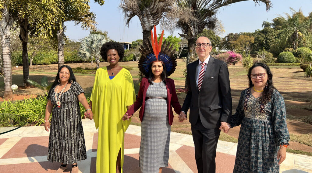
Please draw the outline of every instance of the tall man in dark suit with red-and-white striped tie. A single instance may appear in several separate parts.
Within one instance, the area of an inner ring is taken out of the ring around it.
[[[182,111],[190,108],[198,172],[214,173],[220,131],[229,130],[232,115],[229,72],[225,62],[209,55],[212,46],[207,37],[199,37],[195,46],[199,59],[187,66],[188,93]],[[186,119],[183,112],[179,115],[180,121]]]

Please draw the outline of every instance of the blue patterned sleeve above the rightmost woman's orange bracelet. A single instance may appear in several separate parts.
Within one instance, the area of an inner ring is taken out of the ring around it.
[[[283,96],[275,90],[271,97],[274,132],[278,145],[289,145],[290,135],[286,124],[286,107]]]

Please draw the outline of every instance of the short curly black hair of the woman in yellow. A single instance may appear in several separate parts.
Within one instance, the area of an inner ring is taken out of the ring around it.
[[[104,61],[107,61],[106,56],[107,56],[107,52],[110,49],[115,49],[118,53],[119,61],[122,61],[122,59],[124,58],[124,48],[120,43],[115,42],[115,41],[109,41],[102,45],[100,54],[102,58],[104,59]]]

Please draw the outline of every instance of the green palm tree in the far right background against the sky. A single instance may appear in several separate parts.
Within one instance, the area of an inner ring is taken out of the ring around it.
[[[286,26],[282,33],[286,34],[286,41],[288,38],[292,40],[292,48],[295,50],[298,47],[298,40],[303,35],[308,34],[310,22],[308,20],[300,21],[299,15],[293,17],[288,16]]]

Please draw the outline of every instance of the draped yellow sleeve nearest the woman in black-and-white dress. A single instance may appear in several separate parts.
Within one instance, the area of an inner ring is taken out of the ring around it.
[[[93,121],[95,123],[95,128],[97,129],[99,127],[99,115],[98,115],[98,82],[99,82],[99,73],[100,68],[95,73],[95,80],[91,92],[90,101],[92,102],[92,113],[93,113]]]

